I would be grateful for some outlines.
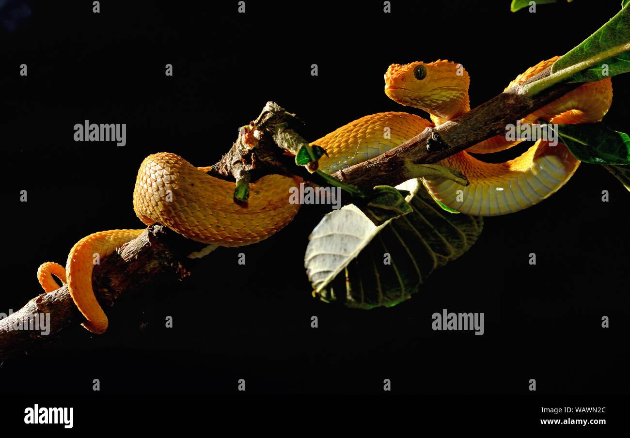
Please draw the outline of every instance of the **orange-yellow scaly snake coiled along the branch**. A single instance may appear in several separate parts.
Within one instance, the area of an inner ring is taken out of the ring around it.
[[[539,62],[518,75],[505,90],[523,83],[551,66],[559,57]],[[430,120],[405,112],[382,112],[358,118],[311,143],[326,154],[319,169],[335,173],[374,158],[420,134],[469,112],[469,74],[448,60],[392,64],[385,75],[387,97],[427,112]],[[598,122],[612,103],[610,78],[581,84],[561,98],[527,115],[522,123],[545,120],[553,124]],[[387,135],[386,135],[387,134]],[[435,200],[450,209],[474,216],[517,212],[546,199],[571,178],[580,161],[564,144],[538,139],[515,159],[486,163],[480,154],[503,151],[520,141],[496,135],[438,164],[461,171],[463,186],[444,176],[422,178]],[[477,156],[475,156],[477,155]],[[246,207],[234,202],[235,182],[209,175],[212,166],[195,167],[173,153],[156,153],[142,161],[135,180],[134,211],[147,226],[162,224],[185,238],[219,246],[244,246],[262,241],[293,220],[300,205],[289,202],[297,176],[265,175],[249,184]],[[115,229],[90,234],[71,249],[66,267],[45,262],[37,279],[45,292],[67,284],[72,301],[85,321],[84,328],[104,333],[108,319],[92,288],[96,263],[119,246],[137,238],[143,229]]]

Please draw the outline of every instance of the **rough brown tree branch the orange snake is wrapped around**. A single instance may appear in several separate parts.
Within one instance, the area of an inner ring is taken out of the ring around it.
[[[415,178],[414,164],[437,163],[505,132],[505,125],[520,120],[580,85],[559,84],[533,97],[525,95],[523,86],[546,78],[549,70],[510,88],[457,120],[438,128],[427,128],[391,151],[338,171],[333,176],[360,187],[398,185]],[[309,173],[306,169],[295,166],[274,141],[278,132],[297,133],[300,128],[301,122],[295,115],[268,102],[261,115],[241,129],[230,151],[209,168],[208,173],[219,178],[234,177],[244,184],[269,173],[307,177]],[[301,139],[299,135],[295,137]],[[298,141],[293,146],[300,147],[301,143]],[[205,245],[185,239],[159,224],[150,226],[137,239],[121,246],[95,267],[92,284],[96,297],[103,308],[109,308],[118,297],[141,287],[172,284],[190,275],[189,268],[195,262],[186,256],[202,248]],[[42,335],[41,330],[23,330],[23,321],[46,313],[50,314],[48,335]],[[49,340],[64,328],[81,322],[83,315],[74,306],[67,285],[55,292],[40,294],[16,313],[0,320],[0,361],[11,355],[28,354],[34,344]]]

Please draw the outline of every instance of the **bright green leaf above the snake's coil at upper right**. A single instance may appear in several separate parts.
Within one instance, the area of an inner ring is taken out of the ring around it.
[[[583,66],[568,82],[588,82],[630,71],[630,7],[622,6],[604,26],[554,62],[551,74]]]

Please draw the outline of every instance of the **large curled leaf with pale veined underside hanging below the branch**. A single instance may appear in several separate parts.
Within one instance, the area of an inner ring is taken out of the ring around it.
[[[346,205],[312,231],[304,266],[321,300],[362,309],[394,306],[481,233],[481,217],[442,210],[420,180],[397,188],[410,190],[409,214],[374,226],[357,207]],[[384,263],[387,255],[390,264]]]

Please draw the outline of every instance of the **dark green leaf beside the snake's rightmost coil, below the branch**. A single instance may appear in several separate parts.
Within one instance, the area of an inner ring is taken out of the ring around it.
[[[579,125],[545,125],[558,134],[558,141],[566,145],[580,161],[591,164],[630,164],[630,137],[612,130],[602,122]]]

